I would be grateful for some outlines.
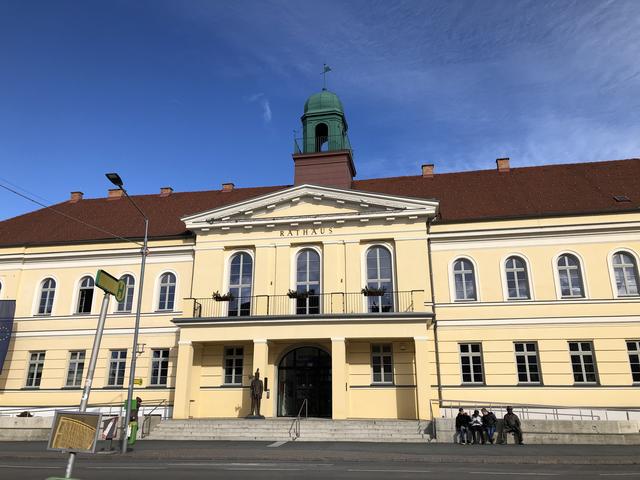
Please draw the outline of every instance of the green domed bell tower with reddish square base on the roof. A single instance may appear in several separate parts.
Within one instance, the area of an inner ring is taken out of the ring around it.
[[[302,138],[295,139],[294,184],[351,188],[356,175],[347,119],[338,96],[326,89],[304,104]]]

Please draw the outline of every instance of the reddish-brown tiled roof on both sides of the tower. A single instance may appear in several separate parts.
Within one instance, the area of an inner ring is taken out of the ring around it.
[[[149,215],[151,237],[189,235],[180,217],[287,188],[236,188],[231,192],[137,195]],[[422,176],[356,180],[356,190],[440,201],[440,221],[579,215],[640,211],[640,159],[481,170]],[[624,195],[629,202],[618,202]],[[126,198],[63,202],[53,209],[127,238],[141,238],[143,225]],[[107,233],[42,209],[0,222],[0,246],[110,240]]]

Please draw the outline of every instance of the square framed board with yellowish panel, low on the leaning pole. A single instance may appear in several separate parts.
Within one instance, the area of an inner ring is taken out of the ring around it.
[[[47,449],[94,453],[101,418],[101,413],[56,412]]]

